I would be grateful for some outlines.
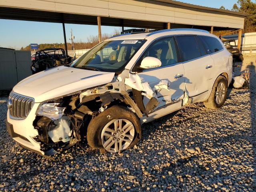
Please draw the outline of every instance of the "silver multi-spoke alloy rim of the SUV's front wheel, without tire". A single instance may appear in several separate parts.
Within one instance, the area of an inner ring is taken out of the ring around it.
[[[130,146],[134,139],[134,126],[127,119],[114,119],[104,126],[101,132],[102,145],[111,153]]]

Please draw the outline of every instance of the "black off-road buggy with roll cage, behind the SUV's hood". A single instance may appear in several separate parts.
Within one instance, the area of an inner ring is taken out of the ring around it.
[[[32,74],[49,68],[70,64],[71,57],[66,55],[62,48],[47,48],[39,50],[33,55],[31,70]]]

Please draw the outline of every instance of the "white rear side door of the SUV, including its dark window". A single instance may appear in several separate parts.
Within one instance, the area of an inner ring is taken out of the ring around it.
[[[185,70],[185,91],[192,102],[206,98],[213,78],[213,59],[195,35],[176,36]]]

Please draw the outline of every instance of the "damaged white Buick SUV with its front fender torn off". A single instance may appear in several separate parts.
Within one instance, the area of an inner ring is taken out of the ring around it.
[[[220,108],[231,79],[232,55],[207,31],[122,34],[19,82],[6,126],[43,156],[81,140],[116,153],[140,140],[142,123],[195,102]]]

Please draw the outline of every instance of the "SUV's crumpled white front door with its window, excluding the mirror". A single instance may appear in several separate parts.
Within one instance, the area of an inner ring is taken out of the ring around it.
[[[162,65],[158,68],[136,70],[136,66],[140,66],[143,58],[148,56],[158,58]],[[179,60],[174,38],[169,37],[153,42],[133,68],[132,71],[136,70],[136,74],[143,78],[144,82],[148,82],[151,88],[154,88],[161,80],[169,82],[169,90],[162,88],[157,91],[159,104],[149,116],[157,118],[181,108],[185,77],[184,68]],[[145,106],[148,98],[144,97],[143,102]]]

